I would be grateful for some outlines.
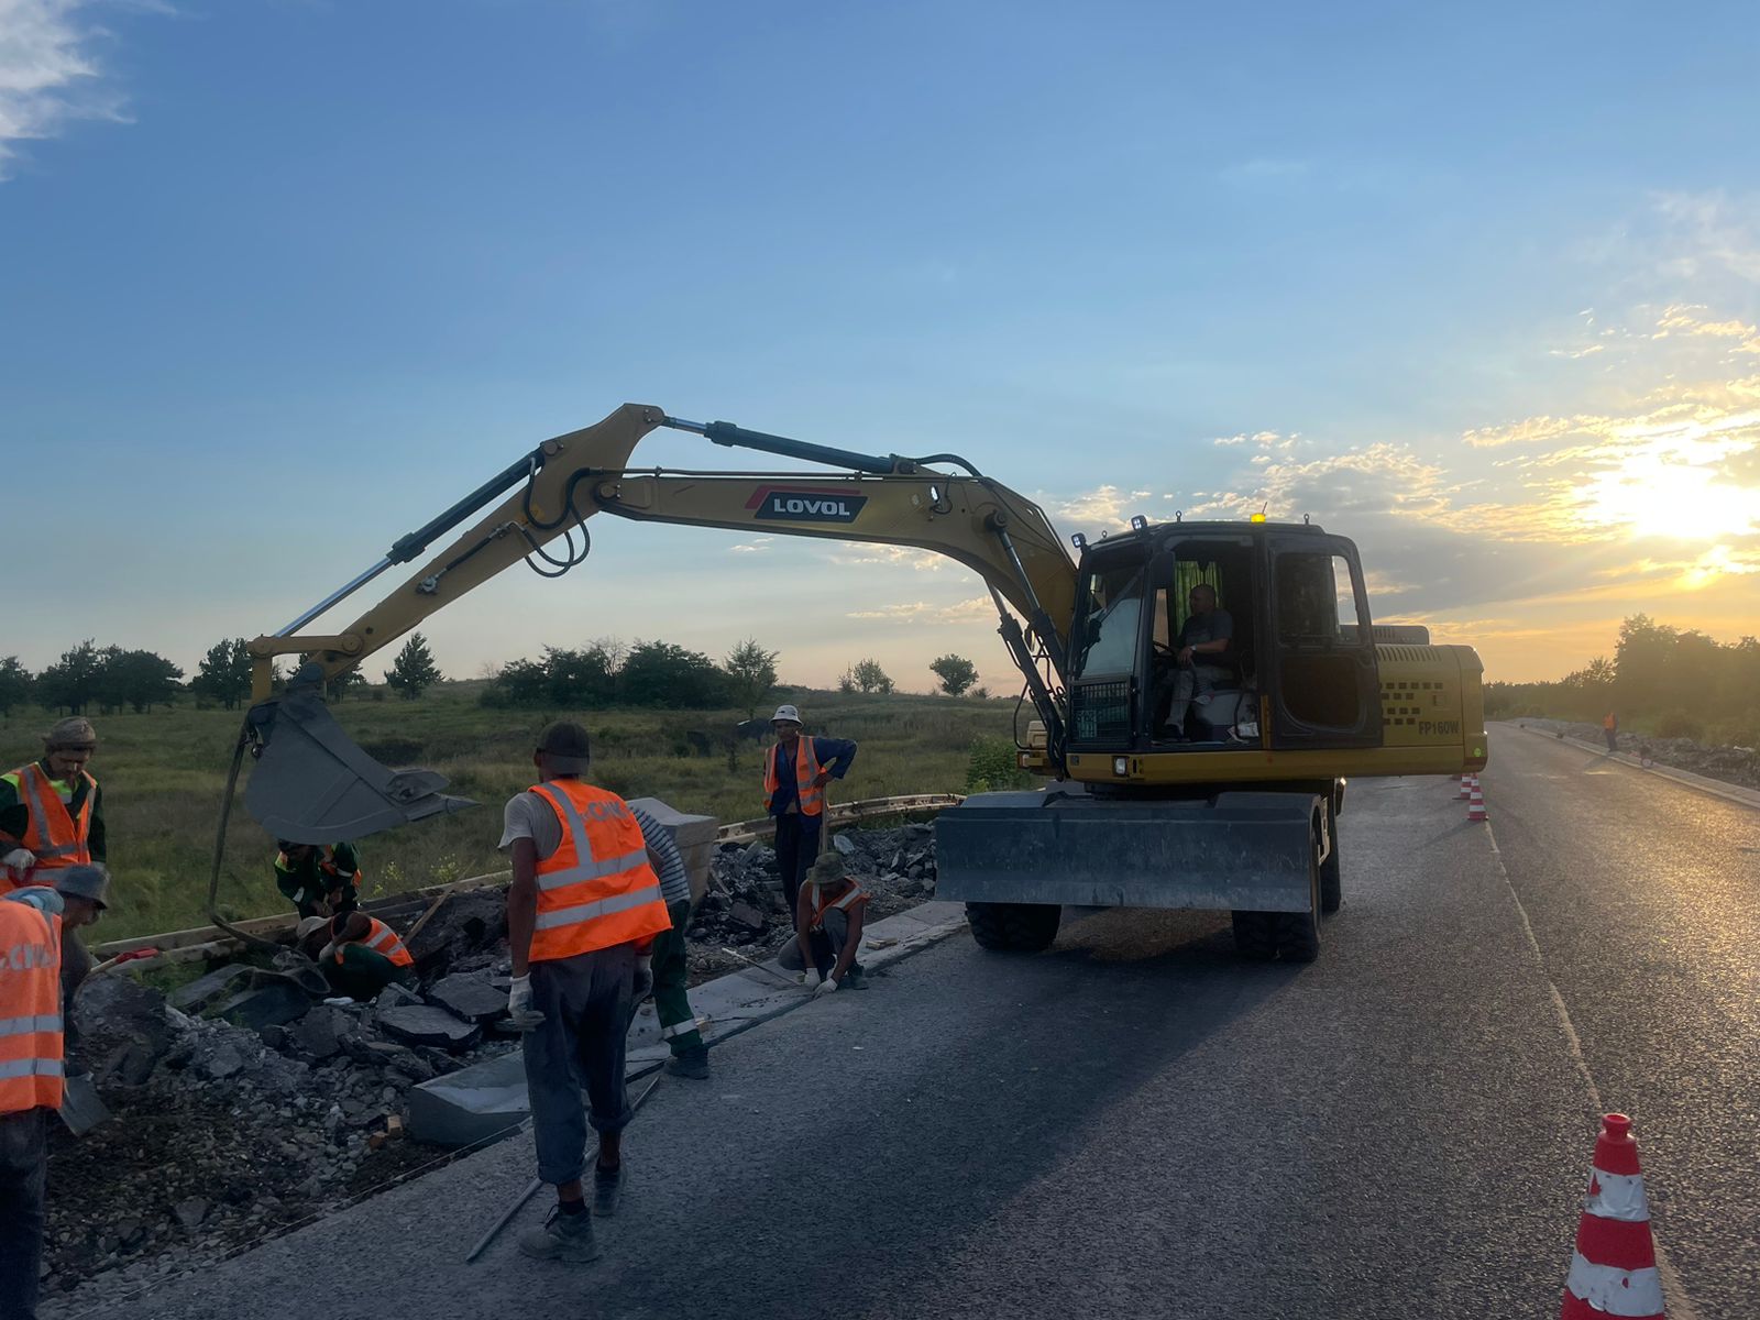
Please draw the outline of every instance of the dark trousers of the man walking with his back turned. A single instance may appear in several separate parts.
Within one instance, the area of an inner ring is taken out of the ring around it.
[[[623,1049],[634,993],[634,943],[532,964],[532,1007],[544,1021],[524,1033],[526,1093],[546,1183],[586,1170],[588,1121],[595,1132],[623,1132],[630,1121]]]

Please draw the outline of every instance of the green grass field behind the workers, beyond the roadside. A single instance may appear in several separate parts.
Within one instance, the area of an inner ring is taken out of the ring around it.
[[[368,896],[419,889],[502,869],[495,845],[502,803],[533,781],[532,746],[551,718],[574,718],[593,736],[593,778],[625,797],[660,797],[679,811],[723,822],[762,815],[762,744],[679,755],[686,730],[718,734],[743,711],[495,711],[477,704],[477,683],[442,685],[421,700],[357,700],[334,708],[343,729],[387,766],[428,766],[452,792],[480,806],[405,825],[361,843]],[[813,732],[861,743],[834,801],[917,792],[961,792],[979,737],[1010,737],[1014,700],[954,697],[847,697],[794,692]],[[92,943],[206,926],[208,875],[238,711],[190,706],[95,718],[92,771],[104,785],[113,903]],[[0,764],[40,755],[53,720],[39,709],[0,720]],[[246,769],[246,774],[250,771]],[[229,919],[283,910],[271,862],[275,841],[245,811],[243,781],[227,827],[220,912]]]

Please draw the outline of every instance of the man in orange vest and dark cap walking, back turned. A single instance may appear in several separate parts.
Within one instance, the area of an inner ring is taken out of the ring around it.
[[[539,781],[509,799],[500,843],[514,864],[507,1012],[524,1033],[539,1177],[556,1186],[556,1209],[519,1250],[572,1262],[598,1257],[591,1216],[618,1209],[632,1112],[625,1040],[632,1008],[653,984],[653,940],[672,928],[655,848],[628,803],[581,778],[590,755],[581,725],[544,729],[532,753]],[[591,1213],[583,1188],[588,1121],[598,1133]]]

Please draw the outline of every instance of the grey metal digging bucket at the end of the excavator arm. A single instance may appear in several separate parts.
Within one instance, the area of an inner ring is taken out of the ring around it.
[[[317,686],[289,688],[250,709],[260,755],[245,806],[278,840],[341,843],[407,820],[461,811],[445,776],[380,766],[341,730]]]

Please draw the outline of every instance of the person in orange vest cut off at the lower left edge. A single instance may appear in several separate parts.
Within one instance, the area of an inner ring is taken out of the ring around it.
[[[62,1107],[62,896],[0,899],[0,1320],[35,1320],[49,1116]]]

